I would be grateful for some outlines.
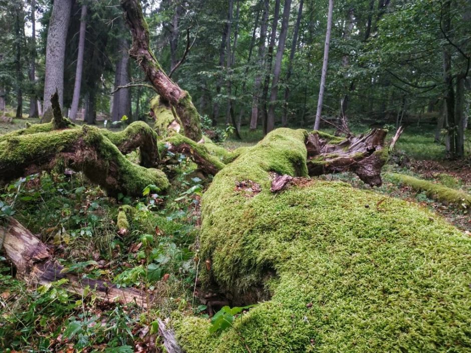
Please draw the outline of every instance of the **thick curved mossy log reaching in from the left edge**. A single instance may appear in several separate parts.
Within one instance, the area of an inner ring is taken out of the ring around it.
[[[169,185],[162,171],[133,164],[95,127],[8,136],[0,142],[0,184],[64,168],[83,172],[113,197],[140,196],[149,184],[161,190]]]

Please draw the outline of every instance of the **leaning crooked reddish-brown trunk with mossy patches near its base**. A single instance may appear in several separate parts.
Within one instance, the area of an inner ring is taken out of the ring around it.
[[[159,95],[175,108],[183,124],[185,136],[193,141],[201,140],[199,114],[190,95],[168,78],[149,48],[149,30],[138,0],[121,0],[121,6],[133,38],[129,54],[136,59]]]

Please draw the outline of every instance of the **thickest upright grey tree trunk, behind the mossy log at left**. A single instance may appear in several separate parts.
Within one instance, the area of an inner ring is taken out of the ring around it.
[[[69,28],[72,0],[54,2],[49,21],[48,41],[46,47],[46,75],[44,79],[43,122],[52,119],[51,97],[56,89],[59,93],[61,108],[64,101],[64,59],[67,30]]]

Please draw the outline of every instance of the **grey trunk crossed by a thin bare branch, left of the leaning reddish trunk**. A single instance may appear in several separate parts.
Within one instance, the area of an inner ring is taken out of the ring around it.
[[[116,73],[114,86],[125,86],[129,83],[129,46],[125,39],[120,40],[120,55],[121,58],[116,64]],[[126,115],[131,118],[131,99],[129,88],[122,88],[116,91],[113,95],[113,110],[111,111],[111,120],[119,121]]]

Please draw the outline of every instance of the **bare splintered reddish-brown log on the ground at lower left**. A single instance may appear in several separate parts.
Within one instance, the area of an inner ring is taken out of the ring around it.
[[[29,285],[47,285],[60,279],[67,279],[65,288],[80,296],[89,288],[102,300],[132,303],[147,308],[152,296],[134,289],[118,288],[115,284],[84,278],[76,273],[67,272],[50,254],[46,244],[36,238],[16,219],[10,218],[5,228],[0,229],[3,247],[7,257],[17,269],[17,278]]]

